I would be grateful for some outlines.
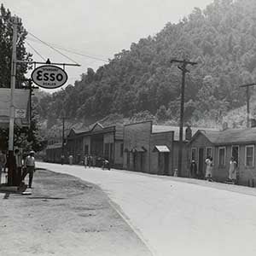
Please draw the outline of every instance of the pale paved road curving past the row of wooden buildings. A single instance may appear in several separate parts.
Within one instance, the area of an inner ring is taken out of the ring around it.
[[[84,166],[37,167],[98,184],[154,255],[256,255],[256,189]]]

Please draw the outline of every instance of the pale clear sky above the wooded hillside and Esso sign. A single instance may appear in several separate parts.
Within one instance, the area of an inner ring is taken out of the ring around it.
[[[130,49],[131,43],[154,36],[167,22],[177,23],[195,7],[204,9],[212,1],[2,0],[0,3],[22,19],[29,32],[26,48],[33,54],[34,61],[49,58],[52,62],[76,61],[81,65],[66,67],[67,84],[73,84],[88,67],[96,70],[122,49]],[[73,61],[33,36],[58,47]]]

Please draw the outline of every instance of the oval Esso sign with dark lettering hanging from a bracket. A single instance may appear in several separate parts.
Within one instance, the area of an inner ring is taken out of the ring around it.
[[[55,89],[67,82],[67,73],[61,67],[44,65],[33,70],[32,81],[45,89]]]

